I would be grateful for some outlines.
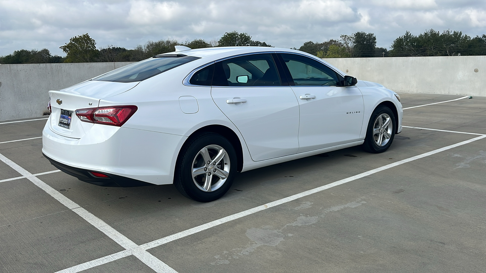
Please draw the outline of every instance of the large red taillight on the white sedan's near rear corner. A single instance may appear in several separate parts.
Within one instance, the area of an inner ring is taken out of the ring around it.
[[[121,126],[137,111],[135,105],[105,106],[76,110],[81,121]]]

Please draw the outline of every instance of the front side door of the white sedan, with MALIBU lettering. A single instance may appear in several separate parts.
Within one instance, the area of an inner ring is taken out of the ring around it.
[[[364,117],[361,91],[356,86],[342,86],[344,78],[317,60],[292,53],[279,55],[294,81],[292,89],[300,106],[297,152],[360,140]]]

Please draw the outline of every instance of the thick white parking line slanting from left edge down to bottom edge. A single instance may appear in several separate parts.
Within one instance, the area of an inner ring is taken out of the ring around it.
[[[13,162],[12,160],[5,157],[3,154],[0,154],[0,160],[3,163],[10,166],[12,169],[17,171],[18,173],[22,174],[25,178],[29,179],[35,186],[41,188],[49,195],[51,195],[54,199],[59,201],[61,204],[67,206],[70,210],[72,210],[77,215],[81,216],[84,220],[88,223],[93,225],[95,228],[103,232],[106,236],[110,239],[117,242],[123,248],[130,250],[131,255],[136,256],[140,259],[144,264],[152,268],[157,273],[177,273],[174,269],[170,266],[159,260],[157,257],[153,256],[152,254],[148,253],[146,250],[139,248],[139,245],[133,242],[132,240],[126,238],[123,234],[118,232],[116,229],[108,225],[103,220],[99,219],[98,217],[94,216],[92,213],[87,211],[85,208],[81,207],[80,205],[74,203],[69,198],[52,188],[51,186],[44,183],[42,180],[37,178],[34,174],[30,173],[29,171],[25,170],[24,168],[20,167],[17,163]],[[65,272],[73,272],[67,271]]]

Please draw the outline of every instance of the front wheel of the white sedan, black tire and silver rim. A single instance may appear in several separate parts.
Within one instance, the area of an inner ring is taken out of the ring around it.
[[[379,117],[383,125],[383,121],[387,119],[387,117],[390,119],[390,123],[387,126],[383,126],[383,128],[381,128],[379,123],[380,120],[378,119]],[[393,142],[393,139],[395,138],[395,120],[395,114],[393,114],[393,111],[390,108],[384,105],[376,107],[375,111],[373,111],[373,114],[371,114],[368,122],[366,137],[364,138],[364,143],[362,145],[363,150],[374,154],[383,153],[384,151],[388,150]],[[381,134],[382,141],[380,143],[379,137]],[[386,138],[387,136],[390,137]]]

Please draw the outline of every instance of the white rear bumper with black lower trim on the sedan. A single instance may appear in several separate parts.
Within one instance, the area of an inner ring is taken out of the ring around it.
[[[88,171],[104,173],[110,183],[121,187],[139,182],[172,184],[177,154],[186,138],[95,124],[77,139],[60,136],[46,124],[42,131],[42,153],[59,170],[96,185],[110,181],[93,177]]]

